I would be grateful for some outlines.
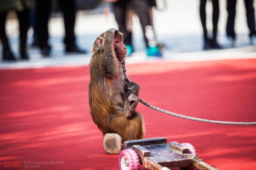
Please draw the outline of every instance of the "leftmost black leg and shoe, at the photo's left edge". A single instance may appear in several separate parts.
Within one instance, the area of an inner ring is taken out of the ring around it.
[[[10,51],[10,46],[5,31],[5,20],[7,12],[0,12],[0,39],[3,46],[3,59],[4,60],[15,60],[14,56]]]

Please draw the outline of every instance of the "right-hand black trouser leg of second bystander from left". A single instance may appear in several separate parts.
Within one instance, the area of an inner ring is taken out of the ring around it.
[[[76,47],[76,38],[74,33],[75,20],[76,20],[76,7],[74,0],[58,0],[60,8],[62,9],[65,24],[65,38],[64,43],[66,49]]]

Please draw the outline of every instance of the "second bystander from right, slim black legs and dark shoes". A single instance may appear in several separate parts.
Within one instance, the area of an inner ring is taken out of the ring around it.
[[[206,28],[206,0],[200,0],[200,19],[202,22],[202,27],[204,31],[204,49],[221,49],[220,45],[217,43],[217,31],[218,31],[218,19],[219,19],[219,0],[212,0],[212,39],[208,37],[208,31]]]

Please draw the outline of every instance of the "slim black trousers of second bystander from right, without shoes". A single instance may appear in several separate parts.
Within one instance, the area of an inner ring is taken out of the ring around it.
[[[206,28],[206,0],[200,0],[200,19],[202,22],[202,27],[204,30],[204,39],[207,40],[207,28]],[[218,19],[219,19],[219,0],[212,0],[212,38],[216,39],[217,30],[218,30]]]

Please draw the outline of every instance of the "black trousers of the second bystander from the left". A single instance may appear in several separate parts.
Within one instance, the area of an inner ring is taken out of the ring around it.
[[[36,33],[38,35],[38,45],[42,49],[48,46],[48,19],[51,10],[51,0],[37,0],[36,1]],[[62,9],[65,25],[64,43],[66,48],[75,46],[75,19],[76,8],[74,0],[58,0],[58,4]]]

